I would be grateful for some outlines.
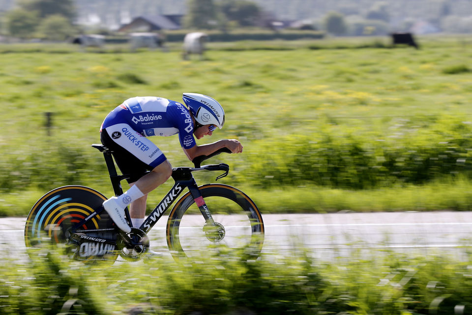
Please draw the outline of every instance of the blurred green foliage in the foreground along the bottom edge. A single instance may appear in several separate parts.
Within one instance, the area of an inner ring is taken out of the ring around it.
[[[472,303],[470,258],[352,252],[324,262],[294,252],[248,261],[242,252],[210,252],[83,265],[43,249],[0,270],[0,312],[426,315]]]

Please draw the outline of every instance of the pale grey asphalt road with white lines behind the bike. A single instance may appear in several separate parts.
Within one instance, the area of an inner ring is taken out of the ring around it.
[[[263,215],[263,252],[291,255],[306,251],[330,259],[352,252],[381,254],[385,249],[420,255],[466,257],[472,236],[472,212],[393,212]],[[0,219],[0,252],[25,255],[25,218]],[[149,233],[151,248],[168,253],[165,220]]]

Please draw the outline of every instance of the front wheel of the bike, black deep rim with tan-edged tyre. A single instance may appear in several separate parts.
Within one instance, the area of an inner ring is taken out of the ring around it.
[[[264,243],[264,222],[255,203],[228,185],[199,187],[214,224],[207,223],[190,192],[177,201],[167,221],[167,245],[174,257],[226,246],[259,255]]]

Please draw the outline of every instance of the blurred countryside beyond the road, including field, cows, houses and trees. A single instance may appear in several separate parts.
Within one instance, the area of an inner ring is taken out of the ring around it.
[[[214,160],[265,213],[471,208],[470,0],[2,0],[0,22],[0,215],[111,195],[104,117],[183,92],[223,104],[202,142],[243,143]]]

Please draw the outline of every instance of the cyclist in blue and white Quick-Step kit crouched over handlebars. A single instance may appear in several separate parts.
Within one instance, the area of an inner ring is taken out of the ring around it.
[[[242,152],[242,145],[236,139],[197,145],[195,137],[211,136],[217,127],[223,127],[225,112],[220,103],[207,95],[184,93],[182,98],[188,108],[162,97],[129,98],[110,112],[100,127],[102,144],[113,151],[119,170],[131,175],[127,179],[130,189],[103,202],[110,218],[125,232],[130,232],[131,227],[126,222],[124,209],[129,205],[132,225],[141,226],[146,216],[148,193],[172,175],[171,163],[147,137],[178,133],[189,160],[224,147],[232,153]],[[144,175],[146,171],[150,172]]]

